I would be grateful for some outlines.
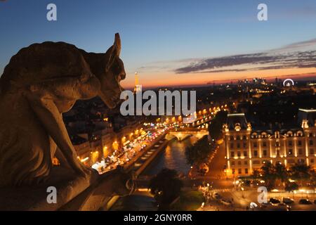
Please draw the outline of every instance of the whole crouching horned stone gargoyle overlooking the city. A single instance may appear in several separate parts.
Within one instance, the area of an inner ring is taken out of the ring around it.
[[[77,158],[62,113],[95,96],[109,108],[119,103],[126,76],[120,51],[115,34],[106,53],[46,41],[11,58],[0,79],[0,186],[44,182],[58,155],[80,176],[91,174]]]

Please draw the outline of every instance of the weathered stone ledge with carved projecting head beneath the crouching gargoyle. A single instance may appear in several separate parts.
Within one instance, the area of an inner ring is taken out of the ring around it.
[[[47,202],[49,186],[57,190],[57,203]],[[134,188],[132,174],[120,168],[84,178],[53,167],[45,184],[0,188],[0,210],[100,210],[113,195],[128,195]]]

